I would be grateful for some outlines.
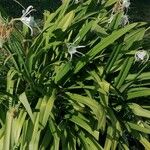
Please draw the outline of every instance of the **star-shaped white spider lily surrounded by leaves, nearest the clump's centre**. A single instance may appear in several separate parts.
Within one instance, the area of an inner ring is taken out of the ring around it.
[[[83,53],[77,51],[78,48],[84,48],[85,46],[76,46],[73,43],[68,43],[67,44],[67,48],[68,48],[68,53],[70,54],[70,60],[72,60],[72,57],[74,54],[80,54],[82,56],[84,56]]]

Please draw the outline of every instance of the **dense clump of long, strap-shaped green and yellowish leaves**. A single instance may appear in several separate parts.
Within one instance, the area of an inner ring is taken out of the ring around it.
[[[134,57],[148,28],[123,26],[122,10],[110,21],[116,2],[64,0],[33,36],[14,24],[0,78],[3,150],[150,149],[150,63]]]

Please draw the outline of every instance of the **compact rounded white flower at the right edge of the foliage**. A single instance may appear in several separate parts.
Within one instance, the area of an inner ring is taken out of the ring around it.
[[[135,53],[135,61],[147,62],[149,60],[149,54],[145,50],[139,50]]]

